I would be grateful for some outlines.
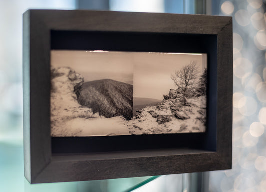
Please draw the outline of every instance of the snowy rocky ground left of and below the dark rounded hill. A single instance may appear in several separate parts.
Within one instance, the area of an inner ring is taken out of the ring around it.
[[[104,118],[92,109],[81,106],[74,87],[83,83],[83,78],[72,69],[54,69],[51,90],[51,135],[99,136],[129,135],[127,121],[123,117]]]

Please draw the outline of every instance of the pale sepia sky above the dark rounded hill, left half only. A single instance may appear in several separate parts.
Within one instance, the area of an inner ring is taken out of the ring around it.
[[[133,85],[133,60],[129,53],[52,50],[51,66],[71,67],[85,82],[113,79]]]

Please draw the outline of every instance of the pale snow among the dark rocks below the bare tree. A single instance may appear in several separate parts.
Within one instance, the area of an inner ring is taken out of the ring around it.
[[[188,103],[193,103],[191,107],[182,107],[189,119],[177,119],[170,110],[170,105],[176,102],[175,99],[164,100],[163,108],[158,109],[157,106],[146,107],[142,109],[140,118],[133,118],[131,121],[133,126],[130,127],[132,134],[165,134],[165,133],[189,133],[189,132],[205,132],[206,126],[199,119],[205,118],[198,111],[206,112],[206,97],[188,99]],[[158,124],[156,118],[152,117],[149,111],[154,111],[158,115],[168,115],[171,121]]]

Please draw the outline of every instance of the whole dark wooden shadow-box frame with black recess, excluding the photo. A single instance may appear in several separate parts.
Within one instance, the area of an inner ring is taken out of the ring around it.
[[[207,53],[206,132],[52,138],[51,50]],[[30,183],[231,169],[232,18],[28,10],[23,15],[23,116]]]

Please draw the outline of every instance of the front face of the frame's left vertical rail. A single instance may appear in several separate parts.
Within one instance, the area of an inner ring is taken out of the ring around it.
[[[51,162],[50,104],[41,108],[41,104],[50,103],[50,78],[43,71],[50,71],[50,31],[43,18],[30,10],[30,154],[31,183]],[[44,54],[45,53],[45,54]]]

